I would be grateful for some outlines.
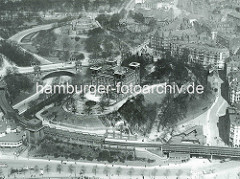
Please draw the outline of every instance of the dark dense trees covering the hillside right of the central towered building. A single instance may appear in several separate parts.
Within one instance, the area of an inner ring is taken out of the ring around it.
[[[129,100],[126,104],[120,108],[120,114],[127,120],[130,127],[139,126],[141,129],[143,126],[146,127],[146,121],[154,121],[153,116],[156,113],[154,110],[159,108],[159,126],[160,127],[174,127],[174,125],[186,117],[189,109],[189,105],[192,103],[198,103],[198,99],[209,97],[211,91],[209,90],[209,84],[207,82],[208,71],[202,67],[200,64],[195,64],[193,66],[187,65],[183,59],[185,56],[174,58],[169,54],[165,58],[159,59],[154,62],[155,70],[147,79],[149,81],[154,81],[155,79],[163,79],[167,83],[176,83],[179,87],[189,82],[195,82],[195,84],[201,84],[204,86],[203,95],[193,93],[193,94],[166,94],[160,106],[154,105],[144,106],[143,98],[136,98]],[[134,56],[123,61],[124,65],[128,65],[131,61],[137,61],[141,65],[146,66],[148,61],[144,61],[139,57],[134,58]],[[154,83],[154,82],[153,82]],[[149,108],[148,108],[149,107]],[[153,111],[151,111],[153,110]],[[149,119],[150,117],[150,119]]]

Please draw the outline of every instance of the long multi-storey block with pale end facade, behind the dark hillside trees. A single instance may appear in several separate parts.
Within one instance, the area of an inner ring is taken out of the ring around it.
[[[188,51],[188,63],[199,63],[204,67],[217,66],[219,70],[223,70],[226,59],[229,57],[229,50],[226,48],[210,47],[205,44],[179,44],[177,49],[178,55],[184,51]]]

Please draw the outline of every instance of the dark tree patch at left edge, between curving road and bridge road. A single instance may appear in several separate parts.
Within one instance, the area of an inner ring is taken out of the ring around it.
[[[21,49],[17,44],[4,41],[0,46],[0,53],[5,55],[10,61],[18,66],[31,66],[40,64],[39,61],[30,53]]]

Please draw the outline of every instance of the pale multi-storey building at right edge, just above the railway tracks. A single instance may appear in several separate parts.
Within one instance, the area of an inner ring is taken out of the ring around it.
[[[229,142],[233,147],[240,147],[240,113],[237,109],[228,109],[230,119]]]

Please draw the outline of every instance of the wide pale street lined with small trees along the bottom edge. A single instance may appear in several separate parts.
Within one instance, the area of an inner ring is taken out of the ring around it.
[[[104,164],[96,162],[68,162],[60,160],[42,160],[42,159],[28,159],[22,157],[12,156],[1,156],[1,163],[6,163],[7,168],[3,168],[5,175],[9,174],[10,168],[21,169],[21,168],[32,168],[25,174],[16,174],[17,178],[27,178],[30,176],[40,177],[40,172],[43,170],[43,177],[74,177],[80,176],[80,173],[86,176],[98,176],[101,178],[118,179],[121,178],[132,178],[140,179],[143,178],[169,178],[175,179],[180,176],[181,179],[187,178],[203,178],[203,179],[226,179],[236,178],[240,171],[239,161],[229,161],[220,163],[219,161],[213,161],[212,163],[206,159],[191,159],[188,163],[183,164],[171,164],[169,166],[128,166],[126,164]],[[61,170],[57,170],[57,166],[61,165]],[[34,170],[35,166],[37,169]],[[46,172],[46,166],[49,165],[49,172]],[[69,170],[69,166],[72,166],[72,174]],[[76,170],[75,170],[76,169]],[[95,170],[96,169],[96,170]],[[14,175],[8,178],[14,178]]]

